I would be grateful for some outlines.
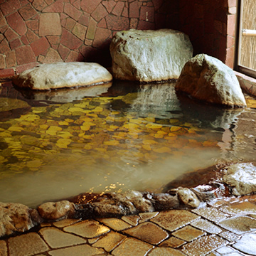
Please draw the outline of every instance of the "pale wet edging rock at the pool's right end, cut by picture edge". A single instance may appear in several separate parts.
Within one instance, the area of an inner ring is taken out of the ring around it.
[[[235,196],[256,192],[256,167],[250,163],[228,166],[223,181],[231,186]]]

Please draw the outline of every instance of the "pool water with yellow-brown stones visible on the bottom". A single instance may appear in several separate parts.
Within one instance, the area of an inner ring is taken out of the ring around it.
[[[31,92],[4,82],[0,201],[35,207],[84,192],[161,192],[220,159],[255,160],[255,109],[202,105],[174,85]]]

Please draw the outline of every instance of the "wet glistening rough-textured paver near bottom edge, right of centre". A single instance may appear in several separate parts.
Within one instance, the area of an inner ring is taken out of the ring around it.
[[[223,238],[219,238],[216,235],[207,235],[183,245],[182,252],[189,256],[207,255],[209,252],[212,252],[213,250],[218,249],[227,243],[228,241],[224,240]]]

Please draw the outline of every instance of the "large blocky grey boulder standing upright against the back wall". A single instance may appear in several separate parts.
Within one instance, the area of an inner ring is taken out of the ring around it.
[[[186,34],[171,29],[116,33],[110,44],[114,78],[153,82],[177,79],[192,58],[193,47]]]

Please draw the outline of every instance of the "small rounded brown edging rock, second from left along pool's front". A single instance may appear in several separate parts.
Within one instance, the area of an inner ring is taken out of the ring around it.
[[[69,201],[48,202],[38,206],[38,213],[45,220],[60,220],[72,218],[75,214],[75,206]]]

